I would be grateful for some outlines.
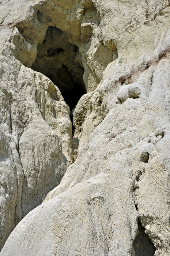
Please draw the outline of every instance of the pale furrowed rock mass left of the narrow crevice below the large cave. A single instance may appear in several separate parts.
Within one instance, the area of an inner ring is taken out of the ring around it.
[[[48,78],[24,67],[9,52],[18,48],[19,39],[23,41],[18,29],[11,30],[1,28],[1,246],[72,163],[69,108]]]

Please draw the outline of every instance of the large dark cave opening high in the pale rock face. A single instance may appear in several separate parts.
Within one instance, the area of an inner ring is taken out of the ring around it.
[[[78,47],[68,42],[67,35],[61,29],[50,26],[37,51],[32,69],[52,80],[72,110],[86,93]]]

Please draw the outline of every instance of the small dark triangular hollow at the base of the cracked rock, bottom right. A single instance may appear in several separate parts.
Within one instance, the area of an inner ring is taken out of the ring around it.
[[[138,230],[139,233],[133,242],[132,256],[154,256],[156,248],[140,222],[138,222]]]

